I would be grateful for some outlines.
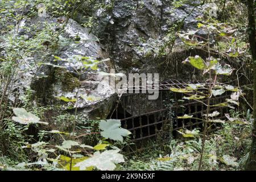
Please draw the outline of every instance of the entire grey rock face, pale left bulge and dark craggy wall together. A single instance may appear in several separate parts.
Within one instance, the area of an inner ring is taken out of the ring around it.
[[[112,7],[108,11],[99,8],[93,12],[97,22],[90,30],[75,20],[50,18],[48,15],[20,22],[16,36],[30,39],[35,36],[35,32],[48,25],[58,40],[57,48],[51,47],[52,52],[48,51],[39,69],[35,63],[42,61],[42,52],[24,58],[27,64],[21,65],[19,77],[14,82],[15,92],[19,96],[28,86],[37,92],[42,102],[49,96],[72,99],[79,93],[77,106],[81,113],[91,119],[106,118],[117,96],[108,82],[102,82],[97,76],[98,71],[109,72],[110,68],[115,68],[115,72],[123,73],[160,73],[162,81],[177,77],[191,80],[194,70],[182,66],[181,61],[196,51],[175,52],[174,47],[174,53],[170,55],[163,49],[172,47],[168,39],[170,36],[175,39],[176,32],[170,30],[177,22],[183,21],[181,27],[184,31],[195,30],[195,19],[202,14],[200,6],[194,9],[192,5],[184,5],[173,9],[172,2],[168,0],[114,0],[105,1],[105,5]],[[30,27],[30,30],[24,27]],[[51,40],[46,40],[44,44],[52,46]],[[79,59],[53,61],[52,55],[61,59],[73,55],[92,57],[92,60],[110,57],[111,61],[101,63],[97,71],[94,71],[85,69]],[[80,76],[77,71],[81,72]],[[99,83],[104,85],[104,89],[97,89]],[[96,100],[88,99],[90,96]]]

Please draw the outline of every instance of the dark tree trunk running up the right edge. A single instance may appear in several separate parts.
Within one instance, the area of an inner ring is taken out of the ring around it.
[[[253,57],[253,131],[252,143],[249,158],[247,160],[245,170],[256,171],[256,46],[255,46],[255,15],[254,15],[254,0],[247,0],[248,9],[248,33],[251,55]]]

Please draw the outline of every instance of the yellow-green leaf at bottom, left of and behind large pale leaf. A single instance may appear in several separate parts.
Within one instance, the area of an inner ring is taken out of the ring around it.
[[[68,156],[64,156],[64,155],[60,155],[60,158],[58,160],[58,164],[60,166],[60,168],[64,168],[67,171],[80,171],[79,167],[75,167],[75,165],[77,163],[80,163],[86,159],[88,159],[88,156],[82,157],[82,158],[78,158],[78,159],[72,159],[72,164],[71,164],[71,158],[69,158]],[[92,171],[94,167],[90,166],[87,167],[83,170],[85,171]]]

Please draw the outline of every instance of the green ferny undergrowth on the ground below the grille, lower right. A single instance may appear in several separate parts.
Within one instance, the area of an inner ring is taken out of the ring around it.
[[[235,112],[236,114],[239,114]],[[250,121],[250,120],[249,120]],[[250,148],[251,123],[246,126],[224,124],[205,140],[202,170],[243,170]],[[148,144],[152,150],[134,154],[126,160],[123,170],[192,171],[199,167],[202,140],[171,139],[164,146]]]

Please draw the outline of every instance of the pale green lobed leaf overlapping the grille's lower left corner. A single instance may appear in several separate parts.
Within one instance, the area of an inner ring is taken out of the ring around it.
[[[130,131],[120,128],[121,121],[119,119],[108,119],[107,121],[101,120],[99,128],[101,136],[112,140],[123,141],[123,137],[130,135]]]

